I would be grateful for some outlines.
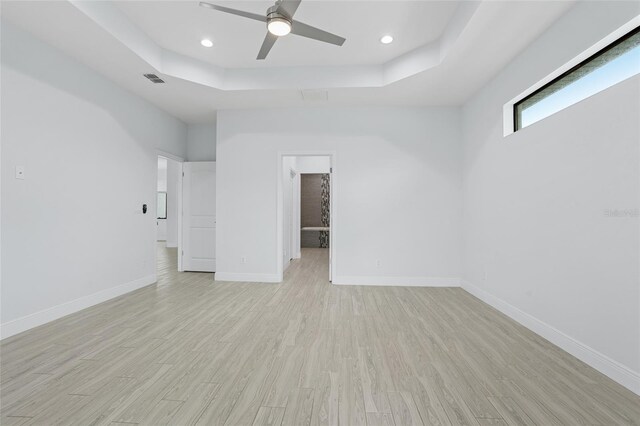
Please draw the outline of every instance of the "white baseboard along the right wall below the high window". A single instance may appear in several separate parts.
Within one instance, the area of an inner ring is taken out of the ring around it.
[[[630,391],[640,395],[640,374],[620,364],[597,350],[585,345],[539,320],[538,318],[516,308],[504,300],[489,294],[468,281],[462,280],[462,288],[478,299],[493,306],[509,318],[517,321],[529,330],[544,337],[554,345],[562,348],[582,362],[595,368],[610,379],[620,383]]]

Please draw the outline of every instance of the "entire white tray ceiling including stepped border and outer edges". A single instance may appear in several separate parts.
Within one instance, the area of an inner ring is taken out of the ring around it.
[[[81,10],[88,3],[3,1],[1,13],[185,122],[211,122],[227,108],[460,105],[573,4],[303,0],[296,18],[346,37],[345,46],[325,49],[287,36],[256,64],[260,22],[200,8],[197,1],[123,3],[92,2],[99,9],[91,14]],[[259,12],[268,3],[224,5]],[[332,18],[338,8],[344,14]],[[378,39],[387,30],[374,22],[384,22],[391,10],[396,41],[382,46]],[[213,39],[213,48],[200,47],[203,36]],[[150,83],[142,77],[148,72],[166,84]],[[301,90],[319,88],[328,89],[328,101],[303,101]]]

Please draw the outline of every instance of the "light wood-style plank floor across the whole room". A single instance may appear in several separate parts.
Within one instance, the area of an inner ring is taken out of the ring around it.
[[[640,397],[457,288],[177,273],[6,339],[1,424],[618,425]]]

